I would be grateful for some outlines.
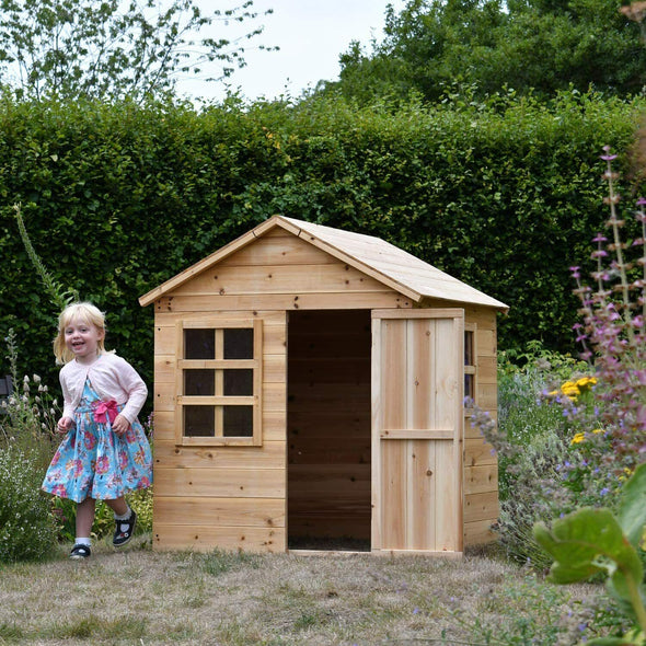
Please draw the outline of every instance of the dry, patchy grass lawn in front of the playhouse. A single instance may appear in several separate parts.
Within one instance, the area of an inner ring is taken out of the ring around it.
[[[0,644],[568,645],[601,587],[463,560],[152,552],[0,568]]]

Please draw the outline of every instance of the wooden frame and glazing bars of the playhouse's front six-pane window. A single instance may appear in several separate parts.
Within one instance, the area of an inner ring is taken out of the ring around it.
[[[215,358],[214,359],[185,359],[184,358],[184,332],[186,330],[214,330]],[[224,359],[223,337],[224,330],[253,330],[253,358],[252,359]],[[218,319],[205,318],[196,320],[182,320],[177,322],[176,333],[176,381],[175,381],[175,445],[194,447],[259,447],[263,443],[263,321],[261,319]],[[219,358],[218,358],[219,357]],[[188,369],[207,369],[220,371],[215,374],[214,395],[185,395],[184,371]],[[223,370],[251,369],[253,370],[253,392],[251,395],[224,395]],[[184,435],[184,406],[215,406],[215,436],[186,436]],[[253,406],[252,435],[224,436],[223,435],[223,406],[244,405]],[[219,407],[219,408],[218,408]],[[218,435],[220,434],[220,435]]]

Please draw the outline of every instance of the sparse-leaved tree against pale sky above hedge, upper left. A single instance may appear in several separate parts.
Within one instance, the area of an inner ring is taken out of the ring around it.
[[[262,26],[233,41],[199,33],[255,21],[252,8],[205,15],[193,0],[0,0],[0,83],[35,100],[172,95],[181,73],[215,68],[207,80],[218,81],[245,65],[244,44]]]

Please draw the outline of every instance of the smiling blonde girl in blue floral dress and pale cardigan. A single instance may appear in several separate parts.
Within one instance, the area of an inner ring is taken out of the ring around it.
[[[105,316],[91,303],[70,304],[58,318],[54,354],[64,364],[58,432],[67,435],[43,489],[78,504],[74,560],[90,556],[96,498],[114,511],[118,547],[130,540],[137,520],[124,494],[149,487],[152,480],[150,446],[137,420],[148,389],[125,359],[105,351],[104,339]]]

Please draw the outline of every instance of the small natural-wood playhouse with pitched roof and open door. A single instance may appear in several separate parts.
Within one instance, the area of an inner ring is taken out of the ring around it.
[[[151,290],[153,545],[453,552],[493,539],[507,307],[281,216]]]

